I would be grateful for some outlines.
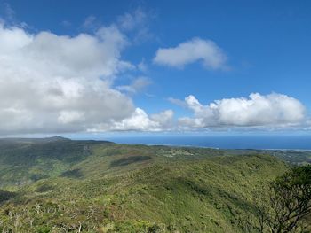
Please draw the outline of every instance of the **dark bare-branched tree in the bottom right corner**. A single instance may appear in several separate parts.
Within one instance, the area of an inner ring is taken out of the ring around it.
[[[293,167],[276,178],[262,193],[257,210],[259,232],[310,232],[311,165]]]

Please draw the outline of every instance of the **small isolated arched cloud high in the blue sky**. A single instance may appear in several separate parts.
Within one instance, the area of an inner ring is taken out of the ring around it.
[[[202,61],[203,66],[210,69],[227,67],[227,56],[223,50],[216,43],[200,38],[180,43],[174,48],[160,48],[154,58],[154,62],[158,65],[179,68],[196,61]]]

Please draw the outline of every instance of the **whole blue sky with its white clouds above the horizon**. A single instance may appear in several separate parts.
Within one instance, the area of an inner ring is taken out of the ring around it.
[[[309,134],[310,11],[0,0],[0,135]]]

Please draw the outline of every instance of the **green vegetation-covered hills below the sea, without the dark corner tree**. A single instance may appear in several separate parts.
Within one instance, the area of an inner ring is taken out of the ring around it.
[[[0,232],[244,232],[298,152],[0,140]]]

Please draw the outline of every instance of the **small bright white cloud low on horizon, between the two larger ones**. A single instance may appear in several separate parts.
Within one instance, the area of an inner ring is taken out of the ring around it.
[[[111,120],[96,128],[89,129],[90,132],[98,131],[162,131],[169,130],[173,124],[173,111],[166,110],[161,113],[148,115],[144,110],[136,108],[132,116],[124,120]]]

